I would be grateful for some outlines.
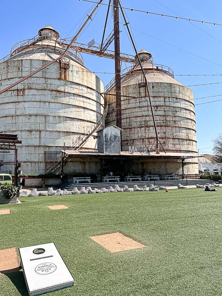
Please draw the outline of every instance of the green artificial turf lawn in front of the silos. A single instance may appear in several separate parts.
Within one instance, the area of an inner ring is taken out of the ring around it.
[[[20,201],[0,205],[11,210],[0,215],[0,250],[54,242],[76,283],[47,295],[222,295],[221,188]],[[111,253],[90,238],[113,232],[147,247]],[[22,271],[1,275],[0,287],[0,296],[28,295]]]

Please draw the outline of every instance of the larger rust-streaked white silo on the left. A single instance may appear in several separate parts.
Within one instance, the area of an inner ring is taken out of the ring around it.
[[[0,63],[1,89],[59,57],[65,51],[63,45],[58,32],[47,26],[36,37],[13,46]],[[22,140],[18,160],[24,164],[24,173],[45,173],[45,155],[56,160],[64,143],[65,149],[71,149],[94,126],[104,110],[101,92],[102,81],[71,50],[62,62],[54,62],[0,95],[0,133],[15,133]],[[83,147],[97,149],[96,140],[91,137]],[[1,153],[0,159],[13,163],[9,153]],[[2,167],[9,170],[11,165]]]

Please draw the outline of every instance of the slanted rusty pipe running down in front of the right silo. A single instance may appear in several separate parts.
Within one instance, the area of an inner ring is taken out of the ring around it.
[[[119,1],[119,0],[118,0],[118,1]],[[153,118],[153,125],[154,125],[154,129],[155,129],[155,133],[156,133],[156,153],[157,153],[157,154],[160,154],[160,149],[159,149],[159,136],[158,136],[158,133],[157,133],[157,126],[156,126],[156,121],[155,121],[155,117],[154,117],[154,113],[153,113],[153,106],[152,106],[152,101],[151,101],[150,92],[149,92],[149,84],[148,84],[148,82],[147,82],[146,74],[145,74],[145,72],[144,72],[144,70],[143,70],[143,66],[142,66],[141,61],[140,61],[140,59],[139,59],[139,55],[138,55],[138,52],[137,52],[136,46],[135,46],[135,44],[134,44],[133,37],[132,37],[132,35],[131,35],[130,29],[129,29],[129,26],[128,26],[128,22],[126,21],[126,17],[125,17],[125,15],[124,15],[123,9],[122,9],[122,7],[121,7],[121,3],[120,3],[120,1],[119,1],[119,4],[120,4],[120,9],[121,9],[121,12],[122,12],[122,14],[123,14],[124,21],[125,21],[125,24],[124,24],[124,25],[126,25],[126,27],[127,27],[127,30],[128,30],[129,36],[130,36],[131,41],[132,41],[132,44],[133,44],[133,48],[134,48],[135,53],[136,53],[136,57],[137,57],[137,59],[138,59],[139,65],[140,65],[140,67],[141,67],[141,70],[142,70],[142,73],[143,73],[143,76],[144,76],[144,80],[145,80],[146,85],[147,85],[147,92],[148,92],[148,96],[149,96],[149,104],[150,104],[151,113],[152,113],[152,118]]]

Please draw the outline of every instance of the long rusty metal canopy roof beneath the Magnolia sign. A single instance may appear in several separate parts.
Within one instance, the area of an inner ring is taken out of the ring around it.
[[[201,157],[201,155],[197,154],[189,154],[189,153],[174,153],[174,152],[160,152],[160,154],[156,154],[155,152],[148,153],[140,153],[135,152],[131,154],[131,152],[128,151],[121,151],[120,154],[103,154],[99,153],[94,150],[60,150],[64,153],[65,157],[67,158],[73,158],[73,157],[102,157],[102,158],[150,158],[150,159],[189,159],[189,158],[195,158],[195,157]]]

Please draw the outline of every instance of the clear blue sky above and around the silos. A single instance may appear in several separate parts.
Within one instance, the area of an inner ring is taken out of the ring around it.
[[[104,0],[104,3],[108,3],[108,0]],[[0,57],[9,54],[11,47],[18,41],[36,36],[38,30],[45,25],[51,25],[56,29],[61,38],[74,36],[79,21],[92,5],[92,3],[79,2],[79,0],[67,0],[64,5],[59,0],[2,1]],[[161,14],[180,15],[196,20],[222,23],[222,1],[219,0],[158,0],[158,2],[156,0],[122,0],[122,5]],[[93,21],[77,41],[88,43],[94,38],[98,44],[101,43],[106,10],[107,6],[100,6]],[[141,12],[126,12],[133,28],[137,49],[144,48],[152,53],[154,63],[172,68],[176,75],[222,74],[222,26],[147,15]],[[121,18],[120,22],[122,22]],[[107,24],[107,34],[112,31],[112,28],[113,20],[110,16]],[[120,33],[120,51],[134,55],[125,29],[125,26],[123,27],[120,24],[120,30],[122,30]],[[113,44],[110,49],[113,49]],[[91,71],[114,72],[114,60],[112,59],[98,58],[89,54],[83,54],[83,58],[86,67]],[[99,74],[98,76],[102,79],[104,85],[113,78],[112,74]],[[220,75],[175,76],[175,79],[186,86],[222,82],[222,76]],[[222,96],[218,96],[222,94],[222,83],[192,86],[190,89],[194,93],[195,104],[222,99]],[[217,97],[197,99],[206,96]],[[197,147],[200,149],[200,154],[212,153],[212,139],[221,132],[221,106],[222,101],[195,107]]]

